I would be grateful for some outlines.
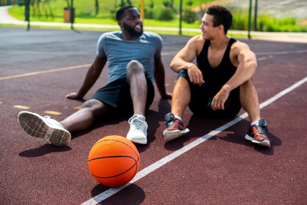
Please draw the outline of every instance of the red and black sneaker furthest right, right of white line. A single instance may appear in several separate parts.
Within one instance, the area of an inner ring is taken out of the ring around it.
[[[267,123],[263,118],[261,118],[259,120],[259,125],[253,125],[250,127],[245,135],[245,139],[252,141],[255,144],[270,148],[271,141],[267,137],[267,131]]]

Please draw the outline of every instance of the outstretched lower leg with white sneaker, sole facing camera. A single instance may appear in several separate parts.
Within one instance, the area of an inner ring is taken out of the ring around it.
[[[70,132],[87,129],[94,120],[108,110],[108,107],[98,100],[91,99],[83,103],[74,114],[61,122],[50,117],[22,111],[18,115],[21,127],[34,137],[44,138],[56,146],[67,146],[71,140]]]

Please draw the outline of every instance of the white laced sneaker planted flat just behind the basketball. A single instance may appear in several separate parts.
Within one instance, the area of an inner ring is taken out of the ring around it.
[[[130,129],[127,134],[127,139],[138,144],[147,144],[147,122],[143,115],[134,114],[128,120]]]

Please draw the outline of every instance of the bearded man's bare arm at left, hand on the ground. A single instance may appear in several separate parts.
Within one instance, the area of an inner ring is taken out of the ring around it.
[[[79,91],[77,93],[71,93],[66,95],[66,98],[70,99],[82,99],[84,95],[91,89],[91,87],[95,84],[98,77],[102,73],[102,69],[106,64],[106,57],[101,58],[96,56],[94,63],[91,65],[89,70],[86,73],[83,84],[81,85]]]

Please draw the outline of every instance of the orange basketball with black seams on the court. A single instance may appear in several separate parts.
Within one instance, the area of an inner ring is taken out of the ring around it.
[[[98,140],[88,155],[88,168],[99,183],[122,186],[134,178],[140,167],[140,154],[125,137],[110,135]]]

